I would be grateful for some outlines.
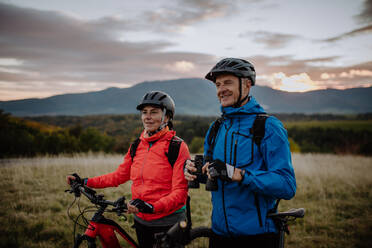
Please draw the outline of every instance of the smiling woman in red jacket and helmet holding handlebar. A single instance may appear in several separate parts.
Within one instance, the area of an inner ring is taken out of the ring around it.
[[[141,111],[144,130],[135,156],[132,158],[129,150],[116,171],[85,179],[84,183],[92,188],[106,188],[132,180],[133,200],[128,203],[128,212],[134,214],[140,247],[153,247],[155,233],[167,231],[185,219],[187,181],[183,165],[190,154],[182,141],[175,163],[171,165],[168,161],[166,154],[176,134],[171,122],[175,105],[168,94],[149,92],[137,109]],[[68,183],[71,179],[75,178],[67,176]]]

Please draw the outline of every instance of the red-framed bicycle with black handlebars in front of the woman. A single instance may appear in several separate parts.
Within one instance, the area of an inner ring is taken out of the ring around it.
[[[127,218],[123,215],[128,210],[125,197],[120,197],[113,202],[105,200],[104,195],[97,194],[93,189],[79,184],[76,181],[71,181],[70,186],[71,188],[65,192],[73,193],[75,195],[75,200],[67,210],[68,216],[74,222],[74,248],[82,247],[82,245],[85,244],[87,244],[88,248],[96,248],[97,237],[99,238],[103,248],[120,248],[121,246],[115,233],[118,233],[123,237],[131,247],[139,247],[135,239],[132,238],[119,224],[104,216],[105,212],[114,212],[118,216],[123,216],[126,221]],[[79,215],[74,219],[70,214],[70,209],[76,202],[76,199],[80,199],[81,195],[86,196],[95,206],[88,206],[81,210],[80,201],[78,201]],[[112,208],[108,209],[109,206]],[[93,208],[96,208],[96,210],[93,210]],[[85,217],[85,214],[89,212],[94,212],[90,221]],[[213,235],[212,230],[208,227],[191,228],[192,223],[190,212],[190,198],[188,197],[186,204],[186,221],[176,223],[166,233],[157,234],[156,247],[193,247],[194,245],[196,245],[195,247],[202,247],[201,242],[203,240],[204,242],[209,242],[209,238]],[[82,218],[84,225],[79,223],[80,218]],[[76,227],[78,225],[86,228],[83,235],[76,234]]]

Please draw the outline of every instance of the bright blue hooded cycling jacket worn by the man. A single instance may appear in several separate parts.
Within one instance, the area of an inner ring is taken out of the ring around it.
[[[251,97],[240,108],[221,110],[224,120],[216,136],[213,159],[244,169],[246,174],[240,184],[218,179],[218,191],[212,192],[212,229],[223,236],[277,232],[266,215],[276,199],[289,200],[296,192],[287,131],[278,119],[269,116],[259,151],[250,133],[257,113],[264,113],[256,100]],[[208,148],[205,141],[205,153]]]

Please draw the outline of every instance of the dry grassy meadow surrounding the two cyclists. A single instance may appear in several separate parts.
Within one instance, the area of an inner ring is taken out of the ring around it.
[[[0,247],[72,247],[67,208],[74,197],[64,192],[65,176],[101,175],[121,161],[105,154],[0,160]],[[293,165],[297,194],[280,210],[304,207],[306,215],[290,226],[287,247],[372,247],[372,158],[293,154]],[[98,191],[110,200],[130,198],[129,183]],[[209,192],[190,195],[193,225],[210,225]],[[128,220],[119,223],[134,234]]]

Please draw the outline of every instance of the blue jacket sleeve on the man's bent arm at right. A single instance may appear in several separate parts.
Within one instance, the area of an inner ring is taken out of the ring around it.
[[[281,122],[270,117],[266,121],[261,143],[267,170],[246,170],[243,184],[252,191],[277,199],[291,199],[296,193],[296,178],[292,166],[287,131]]]

